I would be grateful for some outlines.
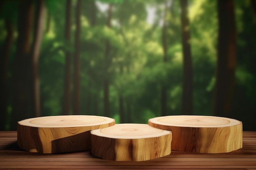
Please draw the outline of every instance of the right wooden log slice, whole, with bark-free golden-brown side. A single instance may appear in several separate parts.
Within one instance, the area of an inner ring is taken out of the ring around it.
[[[225,117],[179,115],[155,117],[149,126],[171,130],[172,150],[222,153],[242,148],[242,122]]]

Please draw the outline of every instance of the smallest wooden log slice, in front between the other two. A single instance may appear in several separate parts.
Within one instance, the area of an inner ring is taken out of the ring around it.
[[[91,134],[92,155],[102,159],[146,161],[171,153],[171,131],[147,124],[116,124]]]

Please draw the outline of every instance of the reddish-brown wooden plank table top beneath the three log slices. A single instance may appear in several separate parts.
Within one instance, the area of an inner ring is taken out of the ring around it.
[[[41,154],[21,150],[16,144],[16,131],[0,131],[0,169],[256,169],[256,132],[243,132],[243,148],[222,154],[199,154],[172,151],[171,155],[149,161],[107,161],[92,156],[90,151]]]

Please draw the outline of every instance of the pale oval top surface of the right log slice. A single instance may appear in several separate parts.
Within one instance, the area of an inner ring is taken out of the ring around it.
[[[216,116],[201,116],[201,115],[175,115],[163,116],[149,119],[153,124],[161,124],[166,126],[180,126],[180,127],[227,127],[242,124],[241,121],[230,119],[226,117]]]

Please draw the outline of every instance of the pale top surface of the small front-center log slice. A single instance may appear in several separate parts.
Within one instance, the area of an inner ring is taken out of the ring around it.
[[[170,131],[153,128],[148,124],[115,124],[107,128],[92,130],[92,135],[114,139],[140,139],[159,137],[170,134]]]

